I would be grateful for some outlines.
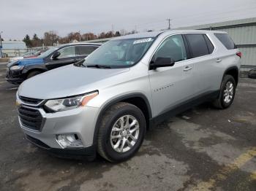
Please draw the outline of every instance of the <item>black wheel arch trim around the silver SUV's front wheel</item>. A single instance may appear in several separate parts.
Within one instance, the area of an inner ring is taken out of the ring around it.
[[[95,129],[94,129],[94,141],[93,141],[94,146],[96,146],[97,144],[97,135],[99,132],[100,119],[102,118],[103,114],[110,106],[113,106],[118,102],[127,102],[129,104],[133,104],[137,106],[143,112],[146,118],[146,125],[148,129],[150,119],[152,118],[152,112],[151,112],[151,106],[149,104],[148,98],[146,98],[146,95],[143,95],[142,93],[130,93],[127,95],[122,95],[118,98],[114,98],[113,100],[108,101],[108,103],[105,104],[100,110],[97,117],[96,124],[95,124]]]

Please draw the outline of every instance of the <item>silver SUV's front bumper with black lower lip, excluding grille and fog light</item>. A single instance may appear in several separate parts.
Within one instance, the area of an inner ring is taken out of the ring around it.
[[[19,101],[20,102],[20,101]],[[42,106],[21,107],[34,109],[42,115],[42,125],[38,130],[29,128],[20,118],[20,128],[25,133],[26,139],[42,149],[48,150],[53,155],[60,157],[94,157],[94,127],[96,124],[98,108],[82,106],[64,112],[48,113]],[[20,107],[19,106],[19,107]],[[75,133],[83,142],[82,148],[63,149],[56,141],[56,135]]]

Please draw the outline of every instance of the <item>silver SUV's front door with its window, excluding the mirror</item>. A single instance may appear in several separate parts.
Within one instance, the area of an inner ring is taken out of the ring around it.
[[[154,116],[176,108],[192,98],[195,80],[194,64],[187,61],[187,50],[181,34],[168,36],[157,48],[152,61],[157,58],[173,58],[173,66],[148,71]]]

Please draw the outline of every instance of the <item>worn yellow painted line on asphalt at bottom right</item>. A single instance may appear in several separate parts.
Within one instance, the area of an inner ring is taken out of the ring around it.
[[[193,187],[192,190],[211,190],[218,181],[223,181],[227,179],[228,175],[233,171],[236,171],[238,168],[241,168],[242,165],[247,163],[252,157],[256,156],[256,147],[252,147],[247,150],[244,154],[237,157],[233,163],[226,165],[224,168],[220,169],[217,174],[211,176],[211,178],[206,182],[200,182],[196,187]],[[256,171],[251,174],[251,179],[256,179]]]

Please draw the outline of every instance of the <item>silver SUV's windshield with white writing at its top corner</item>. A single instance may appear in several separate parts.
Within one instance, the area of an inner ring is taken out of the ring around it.
[[[140,61],[153,41],[154,38],[111,40],[92,52],[83,62],[83,66],[132,66]]]

